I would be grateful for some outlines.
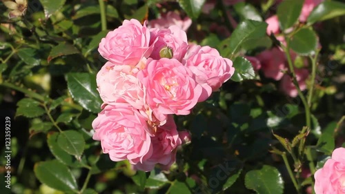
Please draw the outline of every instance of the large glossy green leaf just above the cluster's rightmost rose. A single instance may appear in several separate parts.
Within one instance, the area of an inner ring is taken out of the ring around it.
[[[242,47],[245,41],[255,40],[266,36],[267,23],[262,21],[245,20],[239,23],[234,30],[231,37],[221,42],[221,55],[228,57],[235,55],[235,53]]]

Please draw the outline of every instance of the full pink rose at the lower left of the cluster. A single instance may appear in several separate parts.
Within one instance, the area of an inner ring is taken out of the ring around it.
[[[92,122],[93,139],[112,161],[143,162],[152,155],[150,128],[138,110],[127,104],[107,105]]]

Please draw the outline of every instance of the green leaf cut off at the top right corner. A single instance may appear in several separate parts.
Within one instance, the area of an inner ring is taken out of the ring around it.
[[[339,1],[324,1],[314,8],[307,21],[308,23],[315,23],[316,21],[324,21],[344,14],[345,3]]]

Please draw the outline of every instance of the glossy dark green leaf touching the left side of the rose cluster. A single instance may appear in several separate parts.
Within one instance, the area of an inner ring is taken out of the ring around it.
[[[101,98],[97,91],[96,75],[76,72],[68,73],[67,86],[73,99],[92,113],[101,111]]]

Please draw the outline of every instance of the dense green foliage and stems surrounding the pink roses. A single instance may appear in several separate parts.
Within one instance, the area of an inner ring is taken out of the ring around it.
[[[208,14],[204,3],[30,0],[25,15],[9,19],[1,1],[0,115],[10,117],[12,191],[2,185],[3,146],[0,193],[305,193],[313,177],[302,171],[315,173],[344,146],[345,4],[324,1],[298,23],[300,0],[217,1]],[[101,105],[95,76],[106,62],[97,47],[124,19],[155,19],[166,10],[192,18],[188,39],[217,48],[236,71],[193,114],[175,117],[192,141],[170,171],[135,172],[92,140]],[[275,12],[282,29],[293,29],[283,33],[290,48],[310,64],[308,90],[296,98],[244,58],[277,44],[264,22]],[[210,30],[212,23],[231,36]]]

